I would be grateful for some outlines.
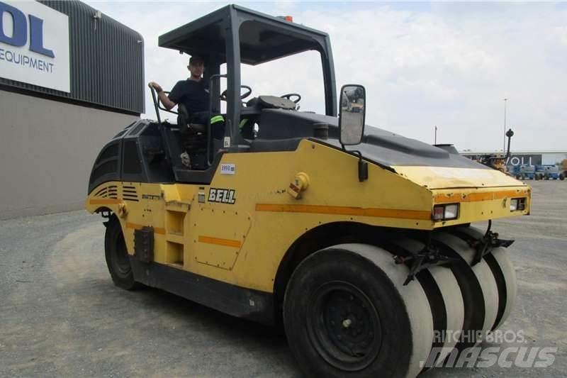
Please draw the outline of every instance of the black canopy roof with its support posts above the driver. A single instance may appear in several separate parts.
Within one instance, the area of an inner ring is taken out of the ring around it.
[[[259,65],[306,50],[317,50],[321,55],[325,86],[325,114],[337,116],[335,68],[332,61],[330,38],[327,33],[307,28],[252,11],[237,5],[228,5],[195,21],[159,36],[159,46],[205,59],[205,76],[210,80],[210,109],[218,111],[218,80],[227,78],[227,109],[225,141],[230,148],[240,148],[240,65]],[[226,63],[226,74],[220,75],[220,65]]]

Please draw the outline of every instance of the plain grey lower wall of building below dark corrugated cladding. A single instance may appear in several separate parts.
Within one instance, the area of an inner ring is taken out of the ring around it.
[[[136,119],[0,90],[0,219],[81,209],[96,155]]]

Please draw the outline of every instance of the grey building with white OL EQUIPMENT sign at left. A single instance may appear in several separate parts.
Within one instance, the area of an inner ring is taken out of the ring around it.
[[[0,219],[82,208],[143,82],[135,30],[79,1],[0,0]]]

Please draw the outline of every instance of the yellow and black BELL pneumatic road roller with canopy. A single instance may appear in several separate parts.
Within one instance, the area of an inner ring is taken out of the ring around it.
[[[529,214],[529,187],[451,145],[366,125],[364,87],[337,96],[329,36],[289,18],[225,6],[159,45],[203,57],[224,133],[186,109],[162,121],[152,91],[157,121],[102,148],[85,206],[106,218],[118,287],[282,326],[306,377],[415,377],[506,320],[512,240],[490,226]],[[249,97],[241,65],[307,51],[321,58],[325,114],[300,111],[301,94]],[[467,337],[435,337],[449,333]]]

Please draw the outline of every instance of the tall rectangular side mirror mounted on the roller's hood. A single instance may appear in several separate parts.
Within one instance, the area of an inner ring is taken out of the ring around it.
[[[341,88],[339,100],[339,141],[342,145],[359,145],[364,135],[366,89],[358,84]]]

